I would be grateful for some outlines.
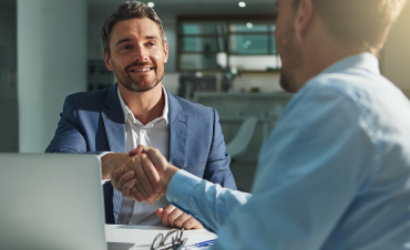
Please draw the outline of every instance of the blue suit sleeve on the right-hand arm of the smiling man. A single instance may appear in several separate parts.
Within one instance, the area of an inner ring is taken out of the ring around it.
[[[213,142],[205,167],[204,179],[236,190],[235,179],[229,169],[230,156],[226,154],[219,116],[215,110],[213,110]]]

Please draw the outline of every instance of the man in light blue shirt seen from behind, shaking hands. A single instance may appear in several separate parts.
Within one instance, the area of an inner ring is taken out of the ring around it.
[[[114,173],[114,187],[142,199],[150,178],[218,235],[211,249],[410,249],[410,103],[373,55],[403,4],[278,0],[280,83],[297,94],[262,149],[252,195],[144,146],[130,153],[145,169],[137,185]]]

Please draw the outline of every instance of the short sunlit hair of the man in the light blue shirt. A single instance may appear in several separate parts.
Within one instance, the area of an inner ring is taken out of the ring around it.
[[[350,45],[378,52],[407,0],[311,0],[328,32]],[[294,0],[297,8],[300,0]]]

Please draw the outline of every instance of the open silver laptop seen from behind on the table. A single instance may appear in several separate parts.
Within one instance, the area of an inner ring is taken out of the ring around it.
[[[98,156],[0,153],[0,249],[133,246],[119,244],[105,241]]]

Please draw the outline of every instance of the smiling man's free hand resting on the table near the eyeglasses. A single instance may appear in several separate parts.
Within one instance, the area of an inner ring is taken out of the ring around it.
[[[182,226],[185,227],[185,230],[204,228],[194,217],[184,213],[173,205],[170,205],[165,209],[156,209],[156,215],[162,219],[165,227],[168,228],[182,228]]]

